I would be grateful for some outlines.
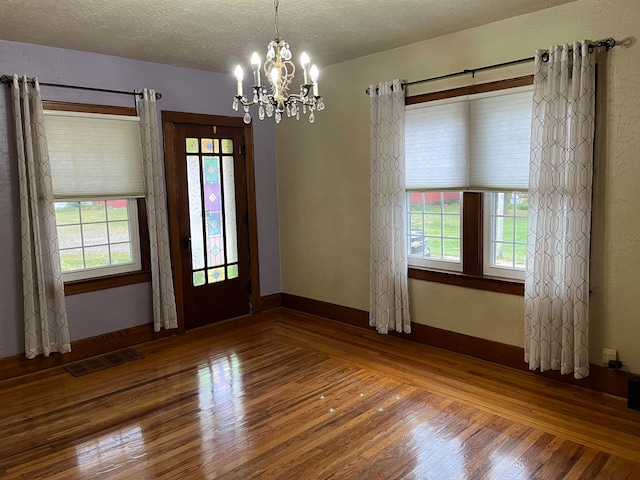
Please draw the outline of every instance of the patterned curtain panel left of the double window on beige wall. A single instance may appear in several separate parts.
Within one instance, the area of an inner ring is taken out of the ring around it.
[[[411,332],[407,286],[404,92],[399,80],[371,85],[371,270],[369,324]]]

